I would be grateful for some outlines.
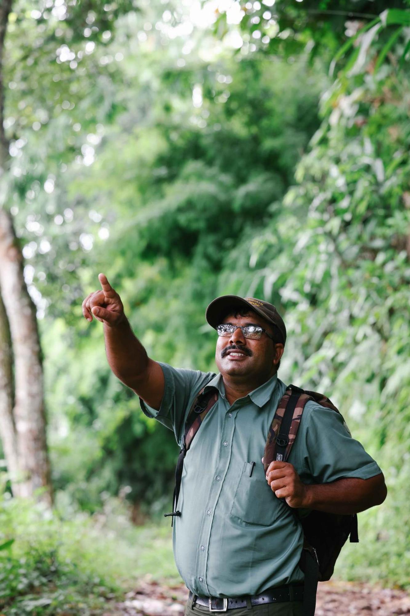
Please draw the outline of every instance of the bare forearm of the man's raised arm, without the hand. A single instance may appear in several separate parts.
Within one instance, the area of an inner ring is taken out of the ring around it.
[[[143,376],[148,366],[148,355],[134,335],[127,318],[113,327],[104,323],[105,352],[113,373],[120,381],[132,387],[135,379]]]

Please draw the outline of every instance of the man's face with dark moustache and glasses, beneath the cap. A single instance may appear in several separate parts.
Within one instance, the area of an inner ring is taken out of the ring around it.
[[[243,316],[228,315],[222,323],[231,325],[259,325],[272,334],[270,324],[264,318],[250,311]],[[243,376],[246,381],[264,381],[273,376],[283,352],[283,344],[276,344],[265,332],[259,340],[245,338],[242,330],[237,328],[231,336],[219,336],[215,360],[222,376]]]

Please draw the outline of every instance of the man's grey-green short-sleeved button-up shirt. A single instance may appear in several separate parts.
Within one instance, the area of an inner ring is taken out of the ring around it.
[[[204,386],[219,392],[183,464],[181,516],[174,517],[173,527],[175,563],[183,581],[199,596],[228,597],[302,582],[302,527],[267,484],[262,464],[286,386],[275,375],[230,405],[222,375],[160,365],[165,377],[161,407],[157,411],[142,400],[141,407],[172,429],[179,444],[198,392]],[[312,401],[303,410],[287,461],[305,484],[368,479],[382,472],[350,436],[342,416]]]

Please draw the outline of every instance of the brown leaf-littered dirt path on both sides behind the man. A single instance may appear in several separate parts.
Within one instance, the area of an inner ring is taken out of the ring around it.
[[[187,600],[184,586],[168,588],[141,582],[105,616],[182,616]],[[410,615],[410,596],[402,590],[374,588],[350,582],[319,584],[315,616]]]

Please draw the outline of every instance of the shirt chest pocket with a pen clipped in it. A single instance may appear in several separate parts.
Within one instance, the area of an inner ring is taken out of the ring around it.
[[[253,470],[252,466],[250,462],[246,462],[243,466],[233,499],[231,516],[249,524],[269,526],[287,505],[276,498],[267,484],[262,463],[256,463]]]

